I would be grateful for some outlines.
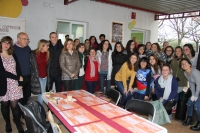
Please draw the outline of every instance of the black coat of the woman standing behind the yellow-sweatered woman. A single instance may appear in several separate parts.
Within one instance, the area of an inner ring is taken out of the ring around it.
[[[112,63],[113,69],[111,73],[111,84],[115,84],[115,75],[121,68],[121,66],[126,62],[127,55],[122,52],[112,53]]]

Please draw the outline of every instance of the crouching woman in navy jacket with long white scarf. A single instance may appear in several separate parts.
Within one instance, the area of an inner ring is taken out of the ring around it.
[[[155,81],[155,93],[157,98],[162,101],[170,119],[172,118],[172,107],[178,100],[178,82],[176,77],[171,74],[171,67],[168,64],[162,66],[161,76]]]

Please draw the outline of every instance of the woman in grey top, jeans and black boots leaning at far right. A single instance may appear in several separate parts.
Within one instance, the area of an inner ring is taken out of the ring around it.
[[[198,122],[195,126],[191,126],[190,129],[194,131],[200,131],[200,71],[196,68],[192,68],[192,63],[188,58],[183,58],[181,60],[181,68],[185,71],[184,75],[187,78],[192,92],[191,98],[187,102],[187,119],[183,123],[184,126],[192,124],[192,113],[193,109],[196,110]]]

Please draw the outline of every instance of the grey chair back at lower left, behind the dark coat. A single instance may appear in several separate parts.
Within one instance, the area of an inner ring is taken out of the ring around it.
[[[35,116],[33,115],[33,113],[25,106],[23,106],[21,103],[18,103],[19,107],[21,108],[21,110],[24,112],[24,115],[28,118],[25,117],[25,121],[26,121],[26,126],[27,129],[31,129],[31,127],[28,127],[30,121],[29,120],[34,120],[34,122],[37,124],[37,126],[39,126],[42,129],[42,133],[47,133],[47,131],[45,130],[45,128],[37,121],[37,119],[35,118]]]

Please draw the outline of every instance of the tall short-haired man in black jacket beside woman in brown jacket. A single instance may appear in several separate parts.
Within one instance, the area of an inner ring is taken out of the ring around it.
[[[49,45],[49,52],[50,52],[50,69],[49,69],[49,76],[50,76],[50,86],[49,89],[52,89],[53,83],[55,82],[56,92],[61,92],[62,80],[61,80],[61,73],[62,70],[60,68],[59,57],[60,53],[63,49],[63,44],[61,40],[58,40],[58,35],[56,32],[51,32],[49,35],[50,45]]]

